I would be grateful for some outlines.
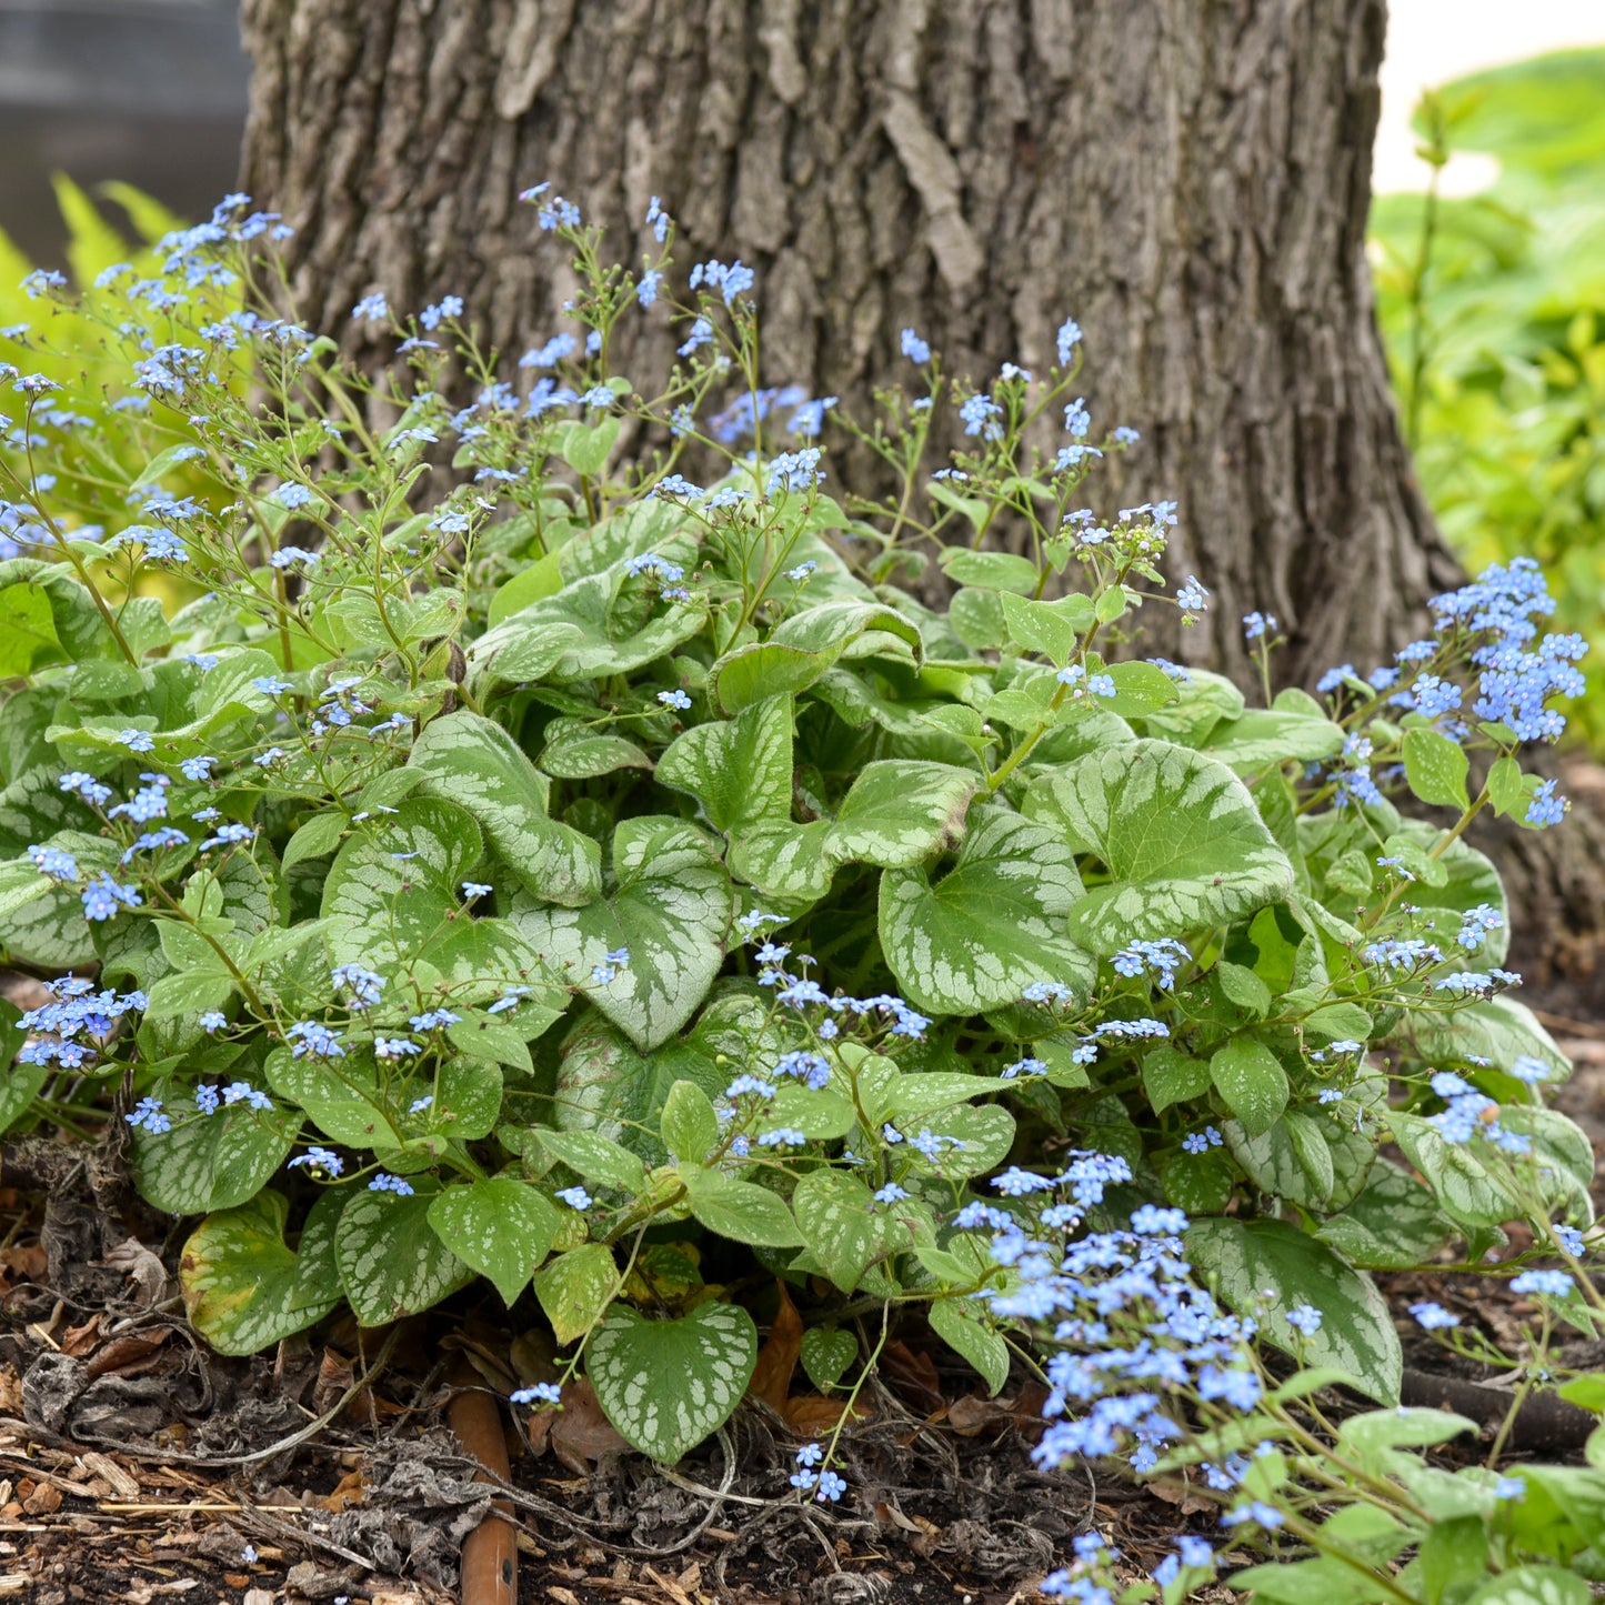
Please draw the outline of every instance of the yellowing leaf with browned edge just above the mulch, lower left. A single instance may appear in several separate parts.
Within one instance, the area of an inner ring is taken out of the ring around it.
[[[209,1215],[191,1233],[178,1262],[185,1311],[220,1355],[257,1355],[340,1302],[334,1223],[342,1205],[340,1194],[324,1193],[294,1250],[284,1245],[289,1204],[271,1188]]]

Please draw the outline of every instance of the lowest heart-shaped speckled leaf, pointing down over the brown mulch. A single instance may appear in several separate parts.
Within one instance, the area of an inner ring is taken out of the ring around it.
[[[607,1419],[642,1454],[672,1465],[742,1403],[758,1329],[740,1305],[705,1303],[679,1321],[615,1308],[586,1353]]]

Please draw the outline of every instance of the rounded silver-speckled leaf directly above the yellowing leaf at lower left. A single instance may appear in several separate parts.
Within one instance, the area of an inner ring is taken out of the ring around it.
[[[165,1098],[178,1088],[160,1087]],[[188,1087],[183,1093],[188,1099]],[[181,1109],[175,1109],[180,1114]],[[167,1215],[204,1215],[244,1204],[284,1164],[299,1119],[246,1104],[194,1120],[173,1120],[170,1132],[133,1132],[133,1183],[152,1209]]]

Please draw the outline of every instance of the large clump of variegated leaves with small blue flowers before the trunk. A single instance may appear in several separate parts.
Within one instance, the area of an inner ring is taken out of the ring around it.
[[[127,369],[93,430],[29,366],[66,287],[10,331],[0,912],[58,979],[8,1026],[0,1127],[122,1090],[217,1348],[485,1278],[563,1355],[520,1401],[584,1369],[663,1461],[756,1361],[714,1241],[793,1287],[822,1390],[905,1305],[993,1392],[1056,1321],[1043,1456],[1138,1469],[1274,1443],[1265,1345],[1395,1403],[1367,1271],[1510,1221],[1534,1247],[1501,1273],[1589,1329],[1592,1154],[1464,839],[1565,811],[1520,753],[1581,647],[1531,565],[1252,708],[1133,653],[1143,607],[1210,597],[1167,587],[1173,504],[1083,506],[1136,437],[1091,435],[1074,323],[985,388],[908,329],[860,425],[761,384],[750,270],[676,299],[656,204],[628,273],[530,199],[584,289],[512,364],[457,297],[374,289],[395,364],[366,379],[286,315],[282,225],[242,197],[159,276],[103,276]],[[684,334],[658,390],[608,361],[644,316]],[[965,449],[926,473],[944,408]],[[636,464],[626,417],[660,441]],[[830,494],[827,430],[902,491]],[[897,584],[931,560],[945,612]],[[1245,628],[1268,685],[1278,623]],[[798,1456],[799,1497],[843,1496],[835,1456]],[[1229,1480],[1262,1533],[1270,1464]]]

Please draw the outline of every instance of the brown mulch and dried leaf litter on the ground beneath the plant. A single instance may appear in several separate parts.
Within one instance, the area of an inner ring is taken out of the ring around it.
[[[1605,1029],[1546,1019],[1576,1063],[1557,1104],[1605,1151]],[[504,1396],[541,1375],[538,1339],[491,1324],[485,1305],[377,1335],[335,1323],[318,1347],[221,1359],[188,1335],[170,1294],[180,1234],[125,1191],[116,1165],[51,1144],[8,1159],[0,1602],[456,1599],[457,1544],[491,1489],[443,1425],[443,1379],[461,1351]],[[1523,1300],[1430,1266],[1384,1287],[1420,1375],[1509,1384],[1454,1361],[1404,1310],[1438,1298],[1518,1353],[1534,1314]],[[1565,1358],[1605,1367],[1605,1345],[1573,1342]],[[1215,1536],[1210,1509],[1180,1480],[1140,1491],[1112,1470],[1040,1473],[1029,1454],[1040,1392],[985,1400],[913,1326],[843,1438],[847,1496],[804,1504],[786,1481],[791,1454],[830,1430],[839,1404],[793,1396],[793,1363],[772,1334],[761,1396],[674,1473],[629,1454],[583,1385],[562,1414],[536,1419],[533,1440],[522,1436],[528,1417],[509,1411],[520,1597],[1011,1605],[1035,1597],[1088,1526],[1125,1550],[1133,1576],[1178,1530]],[[1517,1457],[1576,1457],[1541,1438]]]

